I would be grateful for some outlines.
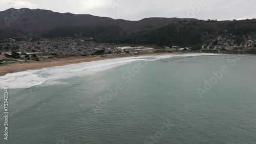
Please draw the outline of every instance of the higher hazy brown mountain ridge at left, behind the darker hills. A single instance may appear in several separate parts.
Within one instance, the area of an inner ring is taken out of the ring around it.
[[[13,15],[16,17],[13,17]],[[125,32],[132,33],[141,30],[157,29],[170,25],[177,20],[181,19],[153,17],[144,18],[139,21],[129,21],[90,14],[58,13],[50,10],[31,10],[27,8],[17,10],[11,8],[0,12],[0,29],[12,28],[25,33],[37,33],[66,26],[117,26],[121,27]]]

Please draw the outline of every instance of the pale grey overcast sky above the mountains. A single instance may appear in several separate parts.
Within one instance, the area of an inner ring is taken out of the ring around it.
[[[145,17],[256,18],[255,0],[0,0],[0,11],[24,7],[126,20]]]

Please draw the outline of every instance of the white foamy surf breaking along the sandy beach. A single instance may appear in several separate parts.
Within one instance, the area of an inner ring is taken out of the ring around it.
[[[190,57],[190,56],[209,56],[220,54],[169,54],[158,56],[139,56],[139,57],[126,57],[116,58],[108,60],[100,60],[93,62],[84,62],[78,64],[69,64],[64,66],[55,66],[50,68],[43,68],[37,70],[27,70],[13,74],[7,74],[0,77],[0,88],[8,86],[9,88],[29,88],[32,86],[38,86],[44,83],[44,85],[56,85],[63,84],[59,80],[83,77],[87,75],[93,75],[99,71],[112,69],[124,64],[128,64],[134,61],[156,61],[159,59],[166,59],[172,57]]]

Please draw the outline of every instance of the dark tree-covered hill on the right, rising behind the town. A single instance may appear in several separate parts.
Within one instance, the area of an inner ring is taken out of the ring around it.
[[[160,29],[140,32],[123,37],[99,37],[96,41],[129,43],[129,44],[157,44],[162,45],[197,45],[210,43],[218,35],[234,35],[237,43],[245,41],[243,35],[256,39],[256,20],[233,21],[179,21]]]

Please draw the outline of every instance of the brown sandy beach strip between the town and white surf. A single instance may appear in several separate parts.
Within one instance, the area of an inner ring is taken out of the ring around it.
[[[138,57],[138,56],[156,56],[156,55],[166,55],[173,53],[151,53],[151,54],[140,54],[140,55],[118,55],[110,57],[71,57],[71,58],[60,58],[55,60],[47,61],[29,61],[29,62],[14,62],[7,65],[0,66],[0,76],[5,76],[6,74],[17,73],[26,70],[42,69],[54,66],[63,66],[69,64],[92,62],[106,59],[123,58],[123,57]]]

